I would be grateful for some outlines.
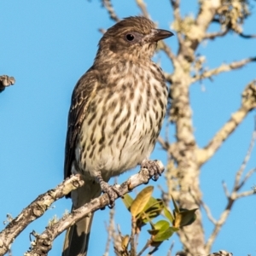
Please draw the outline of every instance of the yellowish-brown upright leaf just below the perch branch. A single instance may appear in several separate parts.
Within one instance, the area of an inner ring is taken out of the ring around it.
[[[131,215],[136,217],[139,213],[141,213],[144,207],[147,205],[152,193],[153,186],[148,186],[143,189],[131,203]]]

